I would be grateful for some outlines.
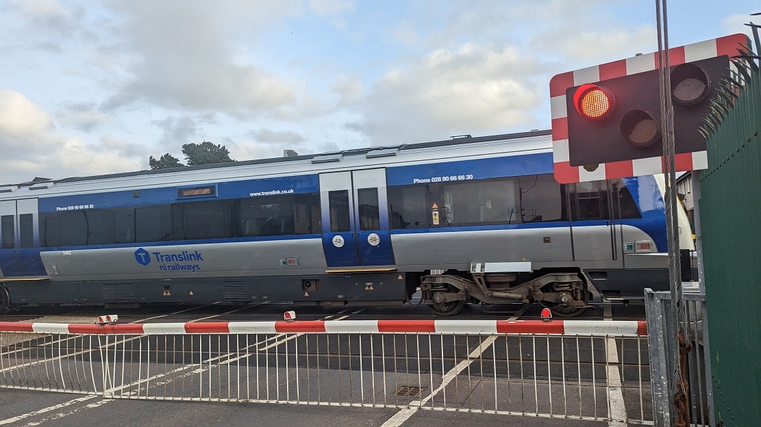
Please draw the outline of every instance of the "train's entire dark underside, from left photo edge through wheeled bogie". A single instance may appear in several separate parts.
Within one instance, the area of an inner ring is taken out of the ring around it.
[[[262,286],[254,284],[258,282],[262,282]],[[322,285],[322,292],[318,283]],[[422,276],[393,272],[333,274],[319,280],[314,277],[297,277],[296,280],[293,277],[271,277],[268,283],[261,278],[248,281],[236,278],[234,281],[161,280],[159,283],[151,280],[86,285],[49,281],[0,283],[0,314],[18,309],[20,305],[126,307],[162,302],[244,303],[256,300],[288,300],[294,305],[393,305],[409,302],[418,287],[422,304],[441,316],[456,315],[466,304],[481,305],[490,313],[517,312],[528,305],[538,304],[559,317],[581,315],[591,307],[587,278],[580,270],[572,269],[511,272],[488,268],[473,270],[472,267],[470,272],[429,270]],[[325,291],[332,294],[326,295]],[[333,294],[336,292],[337,295]]]

